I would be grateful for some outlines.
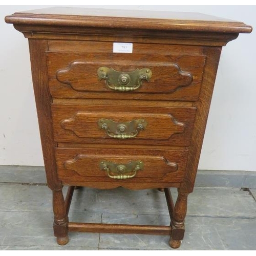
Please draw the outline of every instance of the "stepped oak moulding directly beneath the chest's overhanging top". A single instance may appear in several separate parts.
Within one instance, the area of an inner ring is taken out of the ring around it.
[[[225,46],[236,39],[238,33],[202,33],[200,31],[182,33],[179,31],[134,30],[134,29],[101,29],[101,28],[63,28],[45,26],[15,25],[14,28],[22,32],[26,38],[84,40],[103,42],[139,42],[151,44],[172,44],[191,46]],[[38,32],[40,31],[40,32]]]

